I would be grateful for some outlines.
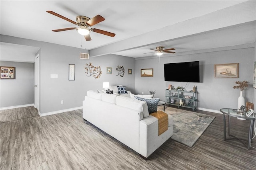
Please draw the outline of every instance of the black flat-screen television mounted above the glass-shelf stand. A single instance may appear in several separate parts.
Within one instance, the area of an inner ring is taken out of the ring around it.
[[[200,82],[199,61],[164,64],[164,81]]]

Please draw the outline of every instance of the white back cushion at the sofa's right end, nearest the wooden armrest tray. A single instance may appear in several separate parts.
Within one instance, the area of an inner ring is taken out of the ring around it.
[[[124,96],[116,96],[116,105],[143,112],[143,117],[148,117],[148,105],[144,101]]]

